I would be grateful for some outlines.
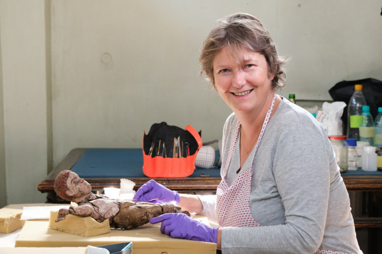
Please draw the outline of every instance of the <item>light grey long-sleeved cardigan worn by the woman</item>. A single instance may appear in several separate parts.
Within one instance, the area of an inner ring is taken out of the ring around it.
[[[231,114],[224,126],[221,174],[236,123]],[[250,167],[253,152],[243,168]],[[239,167],[238,141],[227,174],[229,185]],[[335,153],[309,112],[284,98],[267,125],[252,169],[250,210],[261,227],[224,227],[223,253],[362,253]],[[215,222],[216,197],[198,197],[201,214]]]

